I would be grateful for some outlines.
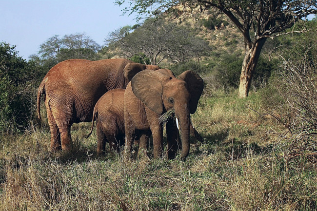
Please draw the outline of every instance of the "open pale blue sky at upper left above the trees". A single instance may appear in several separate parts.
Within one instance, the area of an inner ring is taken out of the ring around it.
[[[98,44],[134,16],[122,16],[114,0],[0,0],[0,41],[16,45],[25,59],[37,54],[46,39],[85,33]]]

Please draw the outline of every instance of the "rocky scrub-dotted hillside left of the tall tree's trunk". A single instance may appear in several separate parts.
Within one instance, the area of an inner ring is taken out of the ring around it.
[[[212,11],[197,7],[178,6],[165,13],[167,21],[191,27],[197,35],[209,42],[213,52],[211,57],[222,54],[240,55],[244,53],[243,36],[225,15],[215,15]]]

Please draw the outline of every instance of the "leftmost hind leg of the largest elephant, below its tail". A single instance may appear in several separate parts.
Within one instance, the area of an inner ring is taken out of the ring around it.
[[[50,131],[51,131],[51,146],[50,146],[51,151],[61,150],[59,127],[57,126],[55,122],[55,118],[49,107],[46,108],[46,112],[47,112],[48,124],[50,126]]]

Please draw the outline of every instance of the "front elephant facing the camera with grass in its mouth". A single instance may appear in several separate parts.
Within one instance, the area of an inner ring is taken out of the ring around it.
[[[177,77],[170,70],[143,70],[129,82],[124,93],[125,154],[131,156],[133,140],[143,134],[153,135],[154,158],[162,156],[163,123],[160,115],[174,109],[181,131],[180,157],[189,153],[190,114],[197,110],[203,90],[203,79],[193,71]],[[127,74],[124,73],[126,76]],[[173,119],[166,123],[167,156],[173,159],[178,150],[178,132]]]

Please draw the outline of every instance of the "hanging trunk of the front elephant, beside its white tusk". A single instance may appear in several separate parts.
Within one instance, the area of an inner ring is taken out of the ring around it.
[[[178,112],[181,111],[181,112]],[[180,138],[181,138],[181,153],[182,159],[186,158],[189,153],[189,125],[190,125],[190,114],[187,104],[182,104],[180,108],[175,107],[175,115],[178,118],[180,126]]]

